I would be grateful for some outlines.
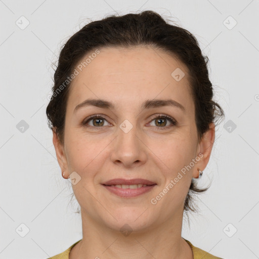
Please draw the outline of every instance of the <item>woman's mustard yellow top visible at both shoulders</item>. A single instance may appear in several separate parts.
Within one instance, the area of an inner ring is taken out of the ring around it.
[[[186,239],[184,239],[189,245],[190,247],[192,248],[192,252],[193,252],[193,258],[194,259],[223,259],[223,258],[220,258],[220,257],[217,257],[217,256],[214,256],[198,247],[195,247],[192,245],[192,243]],[[81,239],[79,240],[81,241]],[[69,259],[68,255],[69,255],[69,252],[70,250],[72,249],[72,247],[74,245],[76,245],[79,241],[77,241],[76,243],[74,243],[73,245],[71,245],[67,250],[65,250],[64,252],[62,253],[59,253],[55,256],[52,256],[48,259]]]

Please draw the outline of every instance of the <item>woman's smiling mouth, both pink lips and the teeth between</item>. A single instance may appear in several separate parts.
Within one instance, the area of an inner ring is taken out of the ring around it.
[[[146,179],[113,179],[102,185],[116,196],[133,198],[151,191],[157,184]]]

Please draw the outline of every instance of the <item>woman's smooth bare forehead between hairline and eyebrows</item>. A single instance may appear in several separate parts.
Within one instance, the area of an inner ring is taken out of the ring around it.
[[[193,108],[188,69],[176,57],[150,46],[106,47],[97,55],[93,53],[85,55],[75,67],[78,74],[70,85],[69,106],[88,98],[112,99],[115,104],[172,98]]]

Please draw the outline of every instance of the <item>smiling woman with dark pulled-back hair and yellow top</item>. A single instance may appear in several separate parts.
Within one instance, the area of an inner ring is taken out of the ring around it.
[[[82,239],[51,258],[219,258],[181,237],[224,115],[206,64],[190,32],[152,11],[66,42],[47,116]]]

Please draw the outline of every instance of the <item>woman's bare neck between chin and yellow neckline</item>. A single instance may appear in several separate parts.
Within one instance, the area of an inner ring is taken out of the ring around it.
[[[152,229],[121,232],[97,223],[82,211],[83,237],[69,259],[193,259],[191,247],[181,237],[182,216],[168,219]]]

